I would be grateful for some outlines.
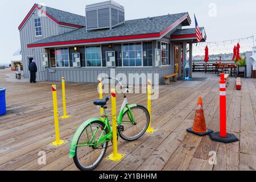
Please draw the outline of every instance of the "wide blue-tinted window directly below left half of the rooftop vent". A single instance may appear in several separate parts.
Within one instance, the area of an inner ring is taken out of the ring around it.
[[[86,47],[86,67],[101,67],[101,46]]]

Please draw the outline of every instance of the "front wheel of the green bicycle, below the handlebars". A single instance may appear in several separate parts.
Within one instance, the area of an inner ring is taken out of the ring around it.
[[[140,105],[127,110],[123,114],[121,125],[124,131],[119,129],[120,137],[127,141],[134,141],[146,133],[150,123],[150,114],[148,110]]]

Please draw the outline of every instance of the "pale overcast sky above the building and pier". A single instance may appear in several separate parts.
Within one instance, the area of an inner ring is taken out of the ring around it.
[[[10,63],[13,53],[20,48],[18,26],[34,3],[85,15],[85,6],[104,0],[1,0],[0,1],[0,64]],[[196,14],[200,27],[205,27],[208,42],[256,36],[255,0],[115,0],[125,6],[126,20],[188,12],[195,27]],[[252,42],[251,42],[252,44]],[[230,45],[231,46],[231,45]]]

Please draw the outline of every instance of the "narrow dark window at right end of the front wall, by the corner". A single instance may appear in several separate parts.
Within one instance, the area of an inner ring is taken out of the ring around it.
[[[143,42],[143,67],[153,66],[152,42]]]

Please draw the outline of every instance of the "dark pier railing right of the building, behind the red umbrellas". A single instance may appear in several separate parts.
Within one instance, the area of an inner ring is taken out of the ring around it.
[[[207,62],[207,72],[215,72],[216,67],[213,64],[220,63],[220,61],[208,61]],[[234,64],[233,60],[223,60],[222,64]],[[193,61],[192,62],[193,72],[205,72],[205,61]]]

